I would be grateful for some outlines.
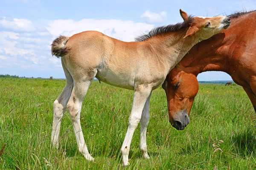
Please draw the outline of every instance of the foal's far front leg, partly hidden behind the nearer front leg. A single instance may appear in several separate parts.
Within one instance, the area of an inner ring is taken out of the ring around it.
[[[147,152],[147,142],[146,142],[146,135],[147,135],[147,127],[149,123],[149,101],[150,101],[151,94],[148,96],[148,99],[144,105],[143,112],[140,119],[140,151],[144,158],[149,159],[148,152]]]

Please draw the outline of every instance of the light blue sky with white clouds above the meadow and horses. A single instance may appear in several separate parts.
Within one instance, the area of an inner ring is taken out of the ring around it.
[[[0,74],[65,78],[61,60],[51,55],[58,35],[95,30],[134,41],[154,27],[182,22],[180,8],[212,17],[256,9],[256,0],[0,0]],[[231,77],[211,71],[198,80]]]

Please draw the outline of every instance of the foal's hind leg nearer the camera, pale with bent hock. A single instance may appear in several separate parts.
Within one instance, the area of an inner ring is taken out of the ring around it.
[[[94,73],[94,77],[95,75],[96,75],[96,71]],[[76,135],[76,142],[78,144],[79,152],[88,161],[93,161],[94,159],[92,156],[90,156],[90,153],[84,142],[84,136],[83,136],[81,123],[80,123],[80,113],[81,113],[82,102],[84,100],[87,90],[94,77],[89,77],[89,78],[80,77],[79,79],[74,78],[73,91],[72,91],[70,100],[67,103],[67,109],[69,111],[70,119]]]

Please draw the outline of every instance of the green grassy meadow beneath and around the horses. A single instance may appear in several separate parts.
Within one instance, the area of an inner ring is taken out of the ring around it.
[[[238,85],[201,84],[183,131],[169,123],[162,88],[153,91],[147,145],[140,155],[140,125],[134,133],[130,166],[122,167],[120,147],[128,128],[133,91],[94,81],[84,99],[81,125],[88,162],[77,151],[68,113],[63,116],[60,147],[52,147],[53,102],[65,80],[0,79],[0,169],[256,169],[256,113]],[[223,142],[222,142],[223,141]],[[218,149],[219,148],[219,149]]]

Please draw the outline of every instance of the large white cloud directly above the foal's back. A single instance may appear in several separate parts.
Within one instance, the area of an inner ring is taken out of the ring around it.
[[[47,30],[54,38],[60,34],[71,36],[82,31],[95,30],[119,40],[134,41],[134,37],[150,31],[153,27],[152,24],[134,21],[84,19],[53,20],[49,22]]]

